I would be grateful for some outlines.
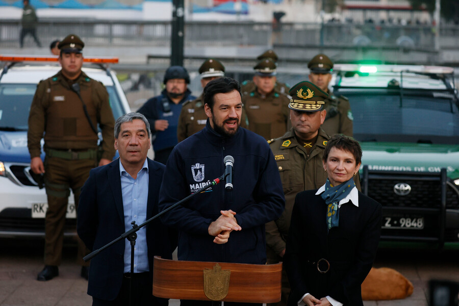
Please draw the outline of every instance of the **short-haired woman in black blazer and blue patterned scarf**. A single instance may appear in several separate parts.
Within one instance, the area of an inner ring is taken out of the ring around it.
[[[344,135],[328,141],[318,190],[297,194],[284,264],[288,305],[363,305],[361,285],[381,232],[381,205],[355,188],[362,148]]]

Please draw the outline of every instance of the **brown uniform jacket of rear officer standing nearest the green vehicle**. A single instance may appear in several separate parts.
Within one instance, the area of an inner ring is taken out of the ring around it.
[[[327,115],[322,129],[330,136],[344,134],[352,136],[352,112],[349,100],[345,96],[330,94],[326,100]]]

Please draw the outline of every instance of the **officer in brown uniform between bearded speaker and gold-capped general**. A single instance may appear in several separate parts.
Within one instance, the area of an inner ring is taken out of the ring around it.
[[[287,131],[290,99],[274,88],[276,64],[271,59],[262,60],[253,69],[255,88],[242,96],[248,129],[265,139],[280,137]]]

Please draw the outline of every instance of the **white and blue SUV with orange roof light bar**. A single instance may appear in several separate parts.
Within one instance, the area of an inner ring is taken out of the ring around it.
[[[32,177],[27,148],[29,110],[40,80],[60,70],[57,57],[2,56],[0,62],[0,237],[44,237],[45,190]],[[114,71],[116,58],[85,58],[83,71],[102,82],[113,116],[130,112]],[[42,154],[44,158],[44,153]],[[65,236],[75,233],[75,205],[69,197]]]

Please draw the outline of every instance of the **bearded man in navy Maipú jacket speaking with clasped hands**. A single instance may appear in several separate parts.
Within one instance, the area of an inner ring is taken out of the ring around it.
[[[161,220],[179,230],[179,260],[265,264],[264,223],[277,219],[285,206],[274,156],[263,137],[239,126],[242,102],[237,81],[212,80],[204,88],[203,99],[206,127],[171,152],[159,210],[210,187]],[[224,184],[211,185],[225,172],[227,156],[234,158],[231,191]],[[183,306],[210,303],[181,301]],[[241,303],[225,302],[231,304]]]

